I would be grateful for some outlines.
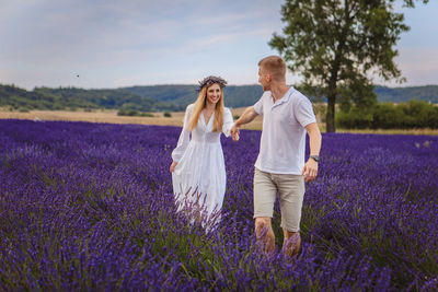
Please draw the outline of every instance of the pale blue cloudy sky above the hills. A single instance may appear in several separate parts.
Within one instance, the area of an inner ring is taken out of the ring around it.
[[[258,60],[278,55],[268,42],[285,26],[284,2],[0,0],[0,84],[113,89],[210,74],[256,84]],[[411,26],[396,45],[402,85],[438,84],[438,1],[397,9]],[[287,75],[288,84],[300,80]]]

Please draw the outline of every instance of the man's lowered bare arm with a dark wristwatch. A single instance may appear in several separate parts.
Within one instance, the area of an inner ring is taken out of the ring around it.
[[[309,135],[310,155],[320,155],[322,137],[318,124],[309,124],[306,126],[306,130]],[[318,175],[318,162],[314,159],[309,157],[306,162],[302,175],[304,176],[306,182],[312,182],[315,179]]]

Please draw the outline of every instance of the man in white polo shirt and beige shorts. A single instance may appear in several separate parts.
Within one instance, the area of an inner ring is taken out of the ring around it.
[[[299,227],[304,196],[304,180],[318,174],[321,132],[308,97],[286,85],[286,63],[277,56],[258,62],[258,82],[264,94],[247,107],[231,129],[239,140],[240,126],[263,115],[261,148],[254,172],[254,219],[257,240],[264,252],[275,250],[272,227],[274,202],[279,192],[284,253],[293,256],[301,244]],[[306,132],[310,156],[304,164]]]

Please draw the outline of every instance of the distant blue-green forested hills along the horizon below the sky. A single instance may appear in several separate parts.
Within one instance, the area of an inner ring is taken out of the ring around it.
[[[0,106],[14,109],[108,108],[140,112],[184,110],[197,98],[197,85],[153,85],[122,89],[84,90],[77,87],[36,87],[26,91],[0,84]],[[404,103],[418,100],[438,104],[438,85],[376,86],[379,102]],[[262,96],[261,85],[229,85],[224,90],[228,107],[253,105]]]

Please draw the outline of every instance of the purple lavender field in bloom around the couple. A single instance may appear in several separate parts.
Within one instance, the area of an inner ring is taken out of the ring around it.
[[[260,131],[222,139],[222,221],[175,212],[180,128],[0,120],[0,291],[438,289],[438,137],[323,135],[302,249],[256,253]],[[283,242],[279,210],[274,230]]]

